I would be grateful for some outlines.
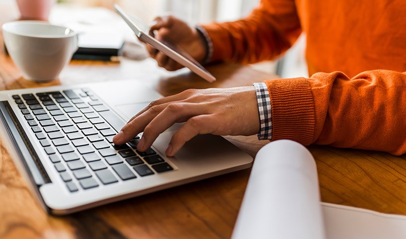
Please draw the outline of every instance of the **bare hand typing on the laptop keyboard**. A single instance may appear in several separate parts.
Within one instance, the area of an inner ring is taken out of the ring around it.
[[[144,132],[137,149],[148,149],[160,133],[176,122],[185,122],[172,136],[166,154],[173,156],[198,134],[252,135],[259,131],[254,87],[186,90],[152,102],[130,119],[114,136],[123,144]]]

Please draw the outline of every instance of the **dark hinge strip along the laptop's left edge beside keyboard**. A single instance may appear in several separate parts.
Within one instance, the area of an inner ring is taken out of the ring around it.
[[[7,101],[0,102],[0,117],[21,161],[37,186],[50,183],[38,155]]]

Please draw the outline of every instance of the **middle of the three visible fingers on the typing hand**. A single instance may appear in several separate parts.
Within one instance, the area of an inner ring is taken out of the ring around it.
[[[185,122],[191,117],[206,114],[207,108],[196,103],[171,103],[151,122],[145,126],[142,134],[142,144],[138,144],[138,150],[148,149],[160,133],[168,129],[176,122]]]

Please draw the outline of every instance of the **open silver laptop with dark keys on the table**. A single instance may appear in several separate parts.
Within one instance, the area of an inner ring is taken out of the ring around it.
[[[145,152],[136,150],[141,135],[113,145],[124,123],[160,97],[136,80],[2,91],[1,138],[32,193],[53,214],[251,166],[248,154],[213,135],[199,135],[166,157],[178,125]]]

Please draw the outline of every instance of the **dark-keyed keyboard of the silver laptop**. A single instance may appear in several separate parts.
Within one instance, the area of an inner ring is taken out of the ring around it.
[[[123,122],[86,89],[13,95],[32,133],[70,192],[174,170],[139,136],[115,145]]]

